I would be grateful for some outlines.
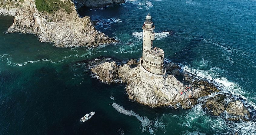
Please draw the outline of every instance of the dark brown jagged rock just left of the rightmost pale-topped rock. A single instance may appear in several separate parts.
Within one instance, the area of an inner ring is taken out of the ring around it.
[[[211,110],[213,115],[219,116],[227,107],[227,101],[224,100],[225,98],[225,95],[218,94],[213,98],[208,98],[204,106],[207,107],[208,110]]]

